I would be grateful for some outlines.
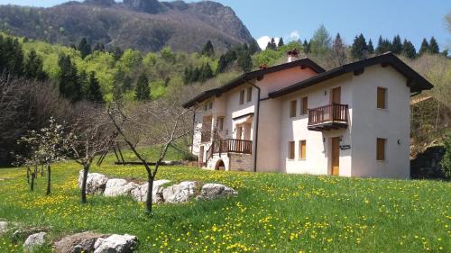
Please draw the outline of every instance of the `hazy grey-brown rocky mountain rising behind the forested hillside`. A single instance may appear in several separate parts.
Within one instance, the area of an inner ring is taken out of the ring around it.
[[[15,36],[69,45],[86,37],[91,45],[157,51],[200,51],[208,41],[216,50],[253,41],[230,7],[202,1],[86,0],[50,8],[0,5],[0,30]]]

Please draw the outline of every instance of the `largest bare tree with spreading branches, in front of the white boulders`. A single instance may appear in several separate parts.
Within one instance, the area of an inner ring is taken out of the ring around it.
[[[152,101],[132,107],[112,104],[108,115],[119,136],[132,149],[136,158],[147,172],[147,196],[145,212],[152,213],[152,187],[155,176],[170,146],[177,145],[177,140],[186,137],[192,129],[192,118],[189,110],[179,106],[179,101],[166,99]],[[139,146],[159,146],[158,157],[151,162]]]

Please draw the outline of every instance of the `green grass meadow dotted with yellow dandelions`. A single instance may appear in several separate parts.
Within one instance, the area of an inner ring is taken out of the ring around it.
[[[91,172],[143,180],[143,167]],[[0,219],[51,227],[51,240],[83,230],[129,233],[138,252],[451,252],[451,184],[435,181],[253,174],[161,167],[159,179],[224,183],[239,194],[216,201],[160,204],[152,217],[131,198],[89,196],[79,203],[72,162],[54,166],[30,192],[25,171],[0,169]],[[0,252],[22,252],[8,235]],[[51,252],[51,246],[40,252]]]

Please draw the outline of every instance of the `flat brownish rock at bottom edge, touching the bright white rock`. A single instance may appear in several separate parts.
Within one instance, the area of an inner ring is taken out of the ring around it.
[[[105,234],[86,231],[62,238],[54,243],[54,247],[57,253],[92,252],[97,239],[106,237]]]

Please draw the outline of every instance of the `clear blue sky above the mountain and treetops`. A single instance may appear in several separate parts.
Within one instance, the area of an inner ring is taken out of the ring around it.
[[[65,0],[0,0],[0,5],[51,6]],[[193,2],[193,1],[188,1]],[[446,0],[307,1],[307,0],[216,0],[231,6],[255,39],[262,36],[309,39],[323,23],[335,36],[340,32],[352,43],[360,32],[375,43],[379,35],[412,41],[417,50],[421,40],[435,36],[443,49],[451,44],[444,16],[451,11]],[[291,35],[291,36],[290,36]],[[292,36],[295,35],[295,36]]]

